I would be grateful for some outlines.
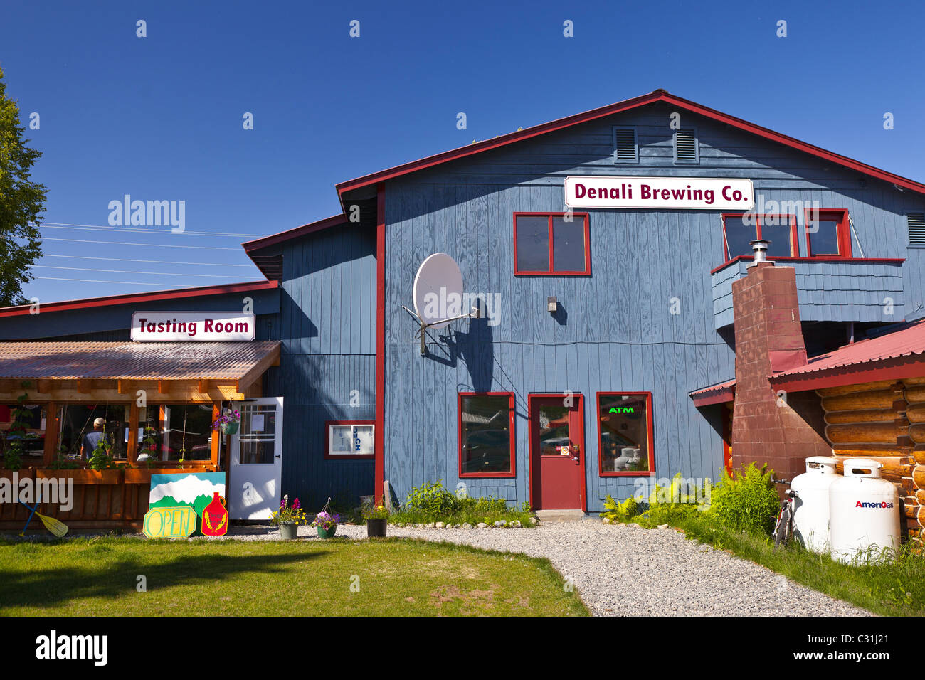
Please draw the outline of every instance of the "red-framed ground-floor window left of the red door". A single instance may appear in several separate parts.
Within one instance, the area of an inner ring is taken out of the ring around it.
[[[460,476],[514,476],[514,395],[460,393]]]

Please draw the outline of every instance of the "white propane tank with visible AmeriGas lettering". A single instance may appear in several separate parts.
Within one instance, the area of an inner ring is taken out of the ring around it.
[[[881,478],[881,468],[866,458],[848,459],[845,476],[829,486],[832,557],[839,562],[850,563],[870,549],[874,559],[899,550],[899,493]]]

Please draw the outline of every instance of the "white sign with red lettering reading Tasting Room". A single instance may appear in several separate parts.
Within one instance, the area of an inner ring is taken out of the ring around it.
[[[240,312],[135,312],[131,339],[136,342],[248,342],[257,317]]]

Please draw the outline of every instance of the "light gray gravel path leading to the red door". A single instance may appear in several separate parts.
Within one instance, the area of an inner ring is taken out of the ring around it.
[[[243,540],[278,538],[275,529],[232,528]],[[785,576],[687,540],[674,529],[544,522],[533,529],[388,527],[392,537],[463,543],[547,557],[598,616],[870,616]],[[300,526],[299,536],[317,538]],[[341,538],[366,538],[364,525],[339,525]]]

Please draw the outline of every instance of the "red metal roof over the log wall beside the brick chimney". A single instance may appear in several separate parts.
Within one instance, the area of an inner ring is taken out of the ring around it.
[[[860,340],[833,352],[814,356],[805,365],[774,374],[771,382],[775,385],[783,382],[798,385],[796,377],[823,376],[852,378],[844,384],[869,382],[877,378],[871,377],[869,380],[866,374],[876,369],[911,370],[913,373],[918,369],[919,375],[925,375],[925,318],[882,336]],[[860,377],[858,373],[865,374],[864,379],[853,379]],[[820,386],[802,389],[820,389]]]

